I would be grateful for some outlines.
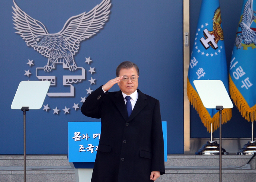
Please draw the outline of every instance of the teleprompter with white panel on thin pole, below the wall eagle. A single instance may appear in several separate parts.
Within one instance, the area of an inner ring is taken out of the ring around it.
[[[23,143],[24,143],[24,182],[26,182],[26,111],[40,109],[50,87],[50,81],[20,82],[11,109],[23,111]]]

